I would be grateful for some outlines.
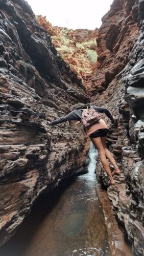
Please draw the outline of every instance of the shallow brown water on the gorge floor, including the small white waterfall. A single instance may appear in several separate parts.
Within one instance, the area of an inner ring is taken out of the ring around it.
[[[1,256],[109,256],[103,214],[95,191],[95,152],[89,173],[42,195]]]

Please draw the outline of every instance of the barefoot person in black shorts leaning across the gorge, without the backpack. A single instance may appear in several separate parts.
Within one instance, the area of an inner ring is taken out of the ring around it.
[[[76,104],[77,105],[77,104]],[[111,115],[111,113],[106,109],[106,108],[101,108],[95,105],[90,105],[85,104],[85,105],[79,105],[75,108],[73,108],[73,111],[71,111],[68,115],[63,116],[61,118],[58,118],[54,121],[49,122],[50,125],[56,125],[58,123],[62,123],[65,121],[69,121],[69,120],[77,120],[77,121],[81,121],[81,117],[82,117],[82,111],[87,108],[87,106],[89,108],[93,108],[94,110],[100,112],[100,113],[105,113],[107,115],[107,117],[114,122],[114,118]],[[91,125],[90,127],[86,127],[85,128],[85,132],[87,133],[87,136],[91,139],[93,145],[95,146],[95,148],[98,150],[99,156],[100,156],[100,160],[101,163],[110,179],[109,181],[109,185],[114,184],[115,181],[113,179],[113,175],[115,174],[120,174],[121,171],[118,169],[118,166],[115,162],[115,159],[113,157],[113,155],[111,154],[111,152],[107,149],[106,146],[106,139],[107,139],[107,134],[108,134],[108,127],[107,124],[105,123],[105,121],[101,118],[99,120],[99,122]],[[111,169],[109,166],[109,162],[108,160],[113,164],[114,166],[114,170],[111,173]]]

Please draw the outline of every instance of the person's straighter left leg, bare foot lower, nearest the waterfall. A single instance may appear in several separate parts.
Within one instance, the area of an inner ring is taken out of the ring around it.
[[[114,184],[114,179],[111,175],[111,170],[110,170],[110,166],[109,166],[109,163],[106,159],[106,155],[105,155],[105,151],[104,151],[104,148],[103,148],[103,144],[102,144],[102,140],[101,140],[101,137],[98,137],[98,138],[91,138],[91,141],[93,143],[93,145],[95,146],[95,148],[97,148],[98,152],[99,152],[99,156],[100,156],[100,159],[101,159],[101,162],[102,162],[102,165],[110,179],[110,184]]]

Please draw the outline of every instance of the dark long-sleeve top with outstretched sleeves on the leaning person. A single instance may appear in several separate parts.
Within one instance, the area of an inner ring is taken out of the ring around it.
[[[85,104],[85,105],[82,105],[80,106],[79,108],[71,111],[68,115],[66,116],[63,116],[61,118],[58,118],[52,122],[50,122],[50,125],[55,125],[55,124],[58,124],[58,123],[62,123],[62,122],[65,122],[65,121],[69,121],[69,120],[77,120],[77,121],[80,121],[81,120],[81,117],[82,117],[82,111],[84,108],[84,106],[87,106],[89,104]],[[111,113],[105,109],[105,108],[100,108],[98,106],[94,106],[94,105],[90,105],[94,110],[97,110],[99,111],[100,113],[105,113],[107,115],[107,117],[109,117],[111,120],[113,120],[113,116],[111,115]]]

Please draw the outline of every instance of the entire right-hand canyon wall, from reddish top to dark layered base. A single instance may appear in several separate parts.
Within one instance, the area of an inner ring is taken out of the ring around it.
[[[87,76],[87,90],[95,105],[115,116],[108,146],[122,170],[108,188],[118,222],[126,230],[134,255],[144,251],[144,1],[114,0],[102,18],[98,63]],[[112,167],[112,166],[111,166]],[[108,179],[99,164],[98,179]]]

